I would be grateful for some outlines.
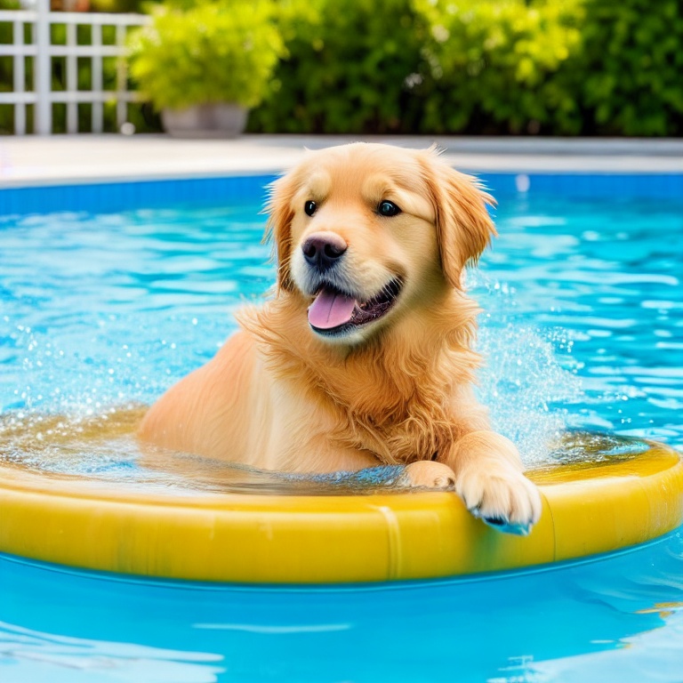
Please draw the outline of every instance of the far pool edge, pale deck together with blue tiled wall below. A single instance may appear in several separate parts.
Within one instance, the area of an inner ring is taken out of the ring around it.
[[[248,201],[305,149],[353,136],[244,135],[177,140],[165,135],[5,139],[0,144],[0,214],[117,212],[165,205]],[[573,198],[683,197],[683,140],[364,138],[426,148],[474,173],[494,197],[555,193]]]

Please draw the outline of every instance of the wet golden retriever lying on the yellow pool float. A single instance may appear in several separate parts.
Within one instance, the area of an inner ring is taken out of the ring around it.
[[[517,448],[474,397],[478,307],[463,269],[495,234],[488,197],[434,149],[307,152],[277,180],[274,296],[149,409],[144,441],[267,470],[406,464],[494,524],[541,511]]]

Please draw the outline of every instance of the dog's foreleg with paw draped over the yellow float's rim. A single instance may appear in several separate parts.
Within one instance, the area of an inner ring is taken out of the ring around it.
[[[528,527],[541,516],[541,494],[522,473],[518,450],[494,431],[472,431],[439,457],[455,473],[455,491],[494,526]]]

